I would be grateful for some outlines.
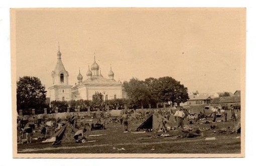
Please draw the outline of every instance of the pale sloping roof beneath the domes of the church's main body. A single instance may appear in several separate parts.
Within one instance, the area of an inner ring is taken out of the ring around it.
[[[87,79],[79,85],[75,85],[72,88],[77,88],[79,86],[120,86],[121,83],[118,83],[114,80],[109,80],[107,78],[101,77],[101,76],[93,76],[91,80]]]

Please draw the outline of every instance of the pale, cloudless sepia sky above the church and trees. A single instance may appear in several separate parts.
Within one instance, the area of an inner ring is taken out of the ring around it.
[[[58,42],[69,84],[79,67],[86,79],[96,60],[104,77],[171,76],[189,92],[240,90],[244,75],[244,9],[76,9],[16,13],[17,80],[39,77],[51,86]]]

